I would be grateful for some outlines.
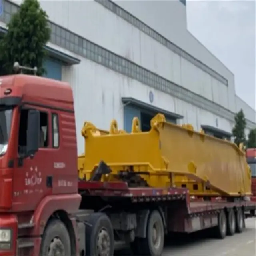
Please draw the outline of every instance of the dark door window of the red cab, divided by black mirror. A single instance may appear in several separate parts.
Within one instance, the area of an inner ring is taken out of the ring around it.
[[[28,109],[22,109],[20,113],[20,128],[18,140],[18,153],[26,153],[28,130]],[[40,112],[40,148],[48,147],[48,114]]]

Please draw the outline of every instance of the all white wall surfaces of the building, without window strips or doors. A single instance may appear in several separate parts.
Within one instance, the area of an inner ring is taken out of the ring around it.
[[[13,2],[19,3],[20,1]],[[164,19],[169,18],[166,20],[168,26],[164,26],[164,23],[158,23],[160,21],[152,19],[152,15],[147,14],[156,11],[152,6],[147,6],[150,1],[122,1],[122,5],[127,4],[127,10],[129,8],[130,11],[132,8],[138,9],[136,13],[134,10],[134,14],[138,18],[151,22],[152,27],[158,30],[161,27],[161,31],[166,37],[227,78],[228,87],[95,1],[40,2],[50,20],[56,24],[60,24],[136,64],[236,112],[233,74],[186,30],[182,21],[174,23],[172,20],[172,18],[178,19],[178,17],[175,18],[175,13],[184,18],[186,10],[182,3],[178,1],[172,3],[176,7],[168,8],[172,14],[169,15],[170,17],[164,15],[164,10],[158,10],[157,14],[161,14],[163,11]],[[118,4],[121,5],[121,2]],[[137,4],[141,5],[140,8],[137,7]],[[172,29],[177,29],[179,33],[174,33]],[[67,51],[65,50],[65,52]],[[78,56],[78,58],[82,57]],[[156,106],[182,114],[184,122],[192,123],[197,130],[201,124],[216,127],[216,118],[218,118],[218,128],[228,132],[232,129],[232,122],[224,118],[149,88],[136,80],[117,74],[89,60],[82,58],[80,65],[64,67],[63,70],[63,80],[70,82],[74,89],[78,136],[80,136],[84,120],[91,120],[100,128],[108,129],[110,120],[116,118],[122,128],[121,97],[134,97],[147,102],[149,90],[154,91]],[[79,140],[79,152],[82,147],[83,141]]]

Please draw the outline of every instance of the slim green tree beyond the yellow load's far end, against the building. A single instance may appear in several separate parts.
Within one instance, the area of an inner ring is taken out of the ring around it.
[[[232,134],[235,138],[235,143],[237,146],[239,146],[240,143],[246,144],[246,138],[245,138],[245,130],[246,128],[246,120],[244,116],[244,112],[241,109],[235,116],[235,126],[232,129]]]

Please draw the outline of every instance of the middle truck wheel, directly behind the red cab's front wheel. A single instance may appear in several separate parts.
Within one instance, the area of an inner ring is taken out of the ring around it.
[[[86,255],[114,255],[114,231],[104,213],[93,213],[86,226]]]

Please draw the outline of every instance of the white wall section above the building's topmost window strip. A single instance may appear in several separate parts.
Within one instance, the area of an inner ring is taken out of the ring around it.
[[[171,42],[174,42],[180,48],[224,76],[228,80],[228,88],[224,86],[217,86],[217,91],[221,91],[224,88],[224,97],[226,104],[231,111],[235,111],[235,86],[234,86],[234,74],[216,56],[214,56],[204,45],[202,45],[188,30],[187,26],[184,26],[180,21],[180,17],[185,20],[184,13],[186,13],[186,6],[179,1],[118,1],[116,2],[122,8],[134,14],[137,18],[154,28],[157,32],[168,38]],[[161,22],[158,19],[152,19],[152,15],[156,13],[156,6],[162,8],[163,17],[165,10],[169,12],[169,16],[172,22]],[[161,6],[161,7],[160,7]],[[221,94],[221,93],[220,93]],[[203,95],[203,94],[202,94]],[[223,94],[222,94],[223,96]],[[219,97],[222,97],[219,96]],[[216,98],[216,97],[215,97]],[[215,99],[214,99],[215,100]],[[221,102],[219,103],[221,104]]]

